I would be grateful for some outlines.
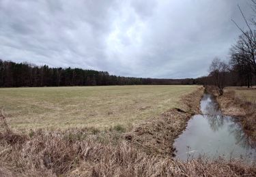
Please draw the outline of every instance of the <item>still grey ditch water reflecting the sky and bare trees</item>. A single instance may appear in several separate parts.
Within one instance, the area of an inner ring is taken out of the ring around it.
[[[237,118],[224,116],[210,94],[201,99],[201,112],[188,121],[186,130],[175,140],[177,159],[187,160],[206,156],[212,159],[256,159],[256,145],[244,133]]]

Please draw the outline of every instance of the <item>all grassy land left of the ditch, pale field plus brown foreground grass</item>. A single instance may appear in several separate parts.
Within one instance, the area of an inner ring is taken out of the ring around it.
[[[9,117],[0,113],[0,176],[255,176],[255,165],[242,161],[171,158],[174,138],[199,110],[199,87],[1,88]],[[79,128],[137,121],[126,132]],[[33,126],[57,129],[13,131]]]

